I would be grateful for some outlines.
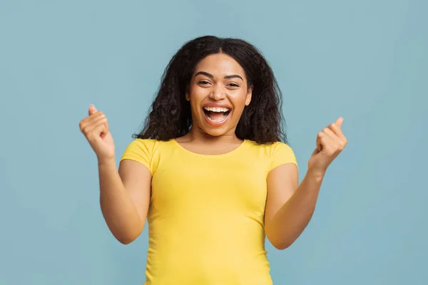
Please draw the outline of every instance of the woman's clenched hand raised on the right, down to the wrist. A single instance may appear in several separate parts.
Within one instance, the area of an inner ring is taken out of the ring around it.
[[[343,118],[338,118],[317,135],[317,148],[312,152],[307,171],[323,176],[330,163],[347,145],[347,139],[342,133]]]

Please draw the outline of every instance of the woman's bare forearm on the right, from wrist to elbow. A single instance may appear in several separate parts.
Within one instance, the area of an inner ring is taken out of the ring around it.
[[[295,193],[280,207],[270,222],[272,244],[285,249],[295,242],[315,210],[324,175],[308,171]]]

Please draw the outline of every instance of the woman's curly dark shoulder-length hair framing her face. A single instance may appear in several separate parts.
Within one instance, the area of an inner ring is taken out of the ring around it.
[[[133,134],[133,138],[166,141],[189,132],[192,116],[185,92],[197,64],[214,53],[225,53],[234,58],[245,71],[248,88],[253,86],[251,103],[243,110],[236,136],[259,144],[287,142],[281,110],[282,94],[272,68],[250,43],[215,36],[195,38],[175,53],[165,68],[143,130]]]

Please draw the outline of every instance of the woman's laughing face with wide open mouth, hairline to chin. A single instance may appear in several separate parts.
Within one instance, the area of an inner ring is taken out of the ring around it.
[[[223,53],[207,56],[196,66],[186,93],[192,128],[212,136],[234,135],[252,90],[243,68],[232,57]]]

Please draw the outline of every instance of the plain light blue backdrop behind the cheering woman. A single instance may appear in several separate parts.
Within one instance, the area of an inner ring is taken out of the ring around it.
[[[0,1],[0,284],[143,284],[146,229],[124,246],[78,128],[106,113],[117,160],[163,69],[196,36],[270,62],[300,179],[338,116],[349,143],[274,284],[428,284],[428,1]]]

